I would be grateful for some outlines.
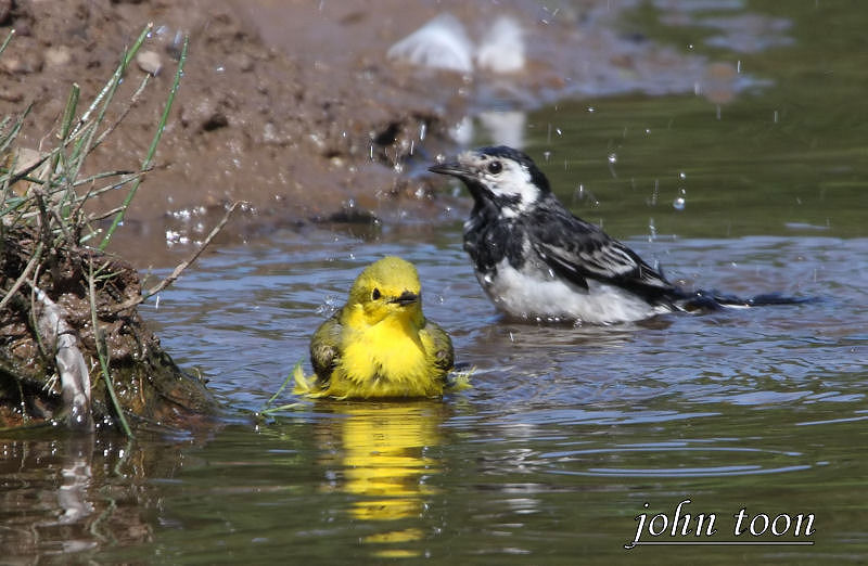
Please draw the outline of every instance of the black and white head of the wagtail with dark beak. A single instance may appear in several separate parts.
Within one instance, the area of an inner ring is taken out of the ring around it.
[[[548,179],[534,162],[506,145],[471,150],[429,170],[461,179],[477,208],[494,205],[506,218],[533,208],[551,192]]]

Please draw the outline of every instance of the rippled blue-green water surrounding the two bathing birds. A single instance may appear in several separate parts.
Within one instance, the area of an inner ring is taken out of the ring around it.
[[[310,228],[217,249],[143,313],[176,361],[210,378],[224,423],[136,442],[3,442],[10,559],[864,561],[868,128],[846,38],[861,38],[865,15],[800,10],[789,46],[695,41],[770,85],[720,108],[693,95],[560,103],[528,116],[527,151],[578,214],[671,279],[817,300],[608,327],[505,321],[461,249],[465,208],[435,227]],[[824,26],[837,33],[812,31]],[[647,33],[677,42],[691,29]],[[387,254],[419,267],[425,312],[475,366],[473,388],[303,401],[255,421],[354,276]],[[672,518],[687,499],[693,517],[715,514],[716,533],[640,540],[814,545],[624,549],[637,516]],[[814,532],[736,537],[742,509],[748,522],[813,514]]]

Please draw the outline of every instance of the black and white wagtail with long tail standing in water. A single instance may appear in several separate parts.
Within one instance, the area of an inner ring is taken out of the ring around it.
[[[524,153],[505,145],[468,151],[429,168],[457,177],[473,196],[464,249],[490,299],[507,313],[592,324],[673,311],[797,303],[691,292],[629,247],[573,216]]]

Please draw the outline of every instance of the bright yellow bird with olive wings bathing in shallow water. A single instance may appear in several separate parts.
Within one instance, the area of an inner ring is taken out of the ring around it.
[[[349,298],[310,340],[315,396],[436,397],[452,369],[452,342],[422,314],[412,263],[385,257],[353,283]]]

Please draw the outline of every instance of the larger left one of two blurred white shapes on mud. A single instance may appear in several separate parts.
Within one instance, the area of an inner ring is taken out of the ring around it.
[[[473,43],[461,22],[448,13],[431,20],[392,46],[386,56],[423,67],[459,73],[473,70]]]

